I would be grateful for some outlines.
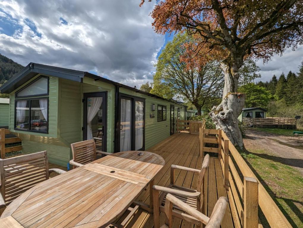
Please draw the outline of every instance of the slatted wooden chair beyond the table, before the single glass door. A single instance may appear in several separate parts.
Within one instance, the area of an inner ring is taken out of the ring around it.
[[[110,155],[111,153],[106,153],[100,150],[96,150],[95,140],[85,140],[78,143],[72,143],[72,154],[73,160],[69,161],[69,164],[75,167],[80,167],[87,163],[96,160],[98,155]]]

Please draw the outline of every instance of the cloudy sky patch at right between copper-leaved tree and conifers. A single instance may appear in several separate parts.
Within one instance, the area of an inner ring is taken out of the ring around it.
[[[274,55],[270,61],[263,64],[263,60],[258,60],[257,65],[261,68],[259,73],[261,78],[256,81],[269,81],[275,74],[277,78],[280,77],[282,72],[286,75],[288,71],[294,73],[298,72],[298,66],[303,60],[303,45],[298,45],[295,51],[288,48],[282,56]]]

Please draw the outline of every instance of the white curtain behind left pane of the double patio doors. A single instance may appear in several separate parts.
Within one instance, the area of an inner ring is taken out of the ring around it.
[[[121,99],[120,151],[132,150],[132,101]]]

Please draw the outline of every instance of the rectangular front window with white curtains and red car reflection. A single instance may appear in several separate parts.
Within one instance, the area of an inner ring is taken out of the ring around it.
[[[48,133],[48,98],[16,100],[15,130]]]

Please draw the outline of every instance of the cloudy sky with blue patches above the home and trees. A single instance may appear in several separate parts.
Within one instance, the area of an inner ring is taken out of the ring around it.
[[[29,62],[90,71],[130,86],[152,81],[154,64],[171,37],[156,34],[149,16],[154,3],[141,0],[0,0],[0,53]],[[261,68],[262,81],[297,72],[303,46],[274,56]]]

